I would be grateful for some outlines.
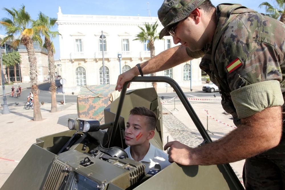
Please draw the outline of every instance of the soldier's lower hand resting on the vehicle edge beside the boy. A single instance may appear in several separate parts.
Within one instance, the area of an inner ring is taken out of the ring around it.
[[[192,148],[178,141],[168,142],[164,146],[164,150],[166,150],[167,148],[169,148],[168,150],[169,162],[171,163],[176,162],[177,164],[181,164],[184,166],[191,165],[190,153]]]

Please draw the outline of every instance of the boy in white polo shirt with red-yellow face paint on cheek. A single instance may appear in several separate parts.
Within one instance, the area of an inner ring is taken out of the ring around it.
[[[154,169],[155,164],[159,164],[161,169],[170,164],[168,155],[149,142],[154,137],[156,120],[153,111],[145,107],[135,107],[130,111],[125,129],[125,143],[129,145],[125,151],[130,159],[146,166],[145,173]]]

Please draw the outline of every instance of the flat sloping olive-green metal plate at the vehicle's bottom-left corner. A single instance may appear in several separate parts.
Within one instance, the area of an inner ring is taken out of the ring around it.
[[[17,165],[1,190],[40,189],[55,154],[33,144]]]

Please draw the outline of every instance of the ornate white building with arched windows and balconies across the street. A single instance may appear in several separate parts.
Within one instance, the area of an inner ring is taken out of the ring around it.
[[[82,85],[103,84],[102,41],[101,31],[106,36],[104,41],[104,62],[106,82],[116,84],[120,74],[118,54],[122,55],[121,71],[124,72],[150,59],[150,51],[146,44],[133,41],[141,31],[138,26],[144,23],[159,25],[157,31],[163,28],[157,17],[131,17],[107,15],[65,15],[58,10],[58,31],[60,37],[60,60],[62,77],[66,79],[66,91],[78,91]],[[171,36],[154,43],[155,53],[175,46]],[[192,85],[201,84],[200,60],[192,60]],[[157,76],[170,76],[180,86],[190,87],[190,61],[169,70],[156,73]],[[151,84],[135,84],[150,87]],[[164,86],[165,83],[158,83]],[[134,84],[132,84],[134,86]]]

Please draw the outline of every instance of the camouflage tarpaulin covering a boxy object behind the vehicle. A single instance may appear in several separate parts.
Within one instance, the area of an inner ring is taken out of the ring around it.
[[[119,96],[116,85],[83,86],[77,96],[78,117],[96,119],[104,123],[104,108]],[[103,119],[103,120],[102,120]]]

